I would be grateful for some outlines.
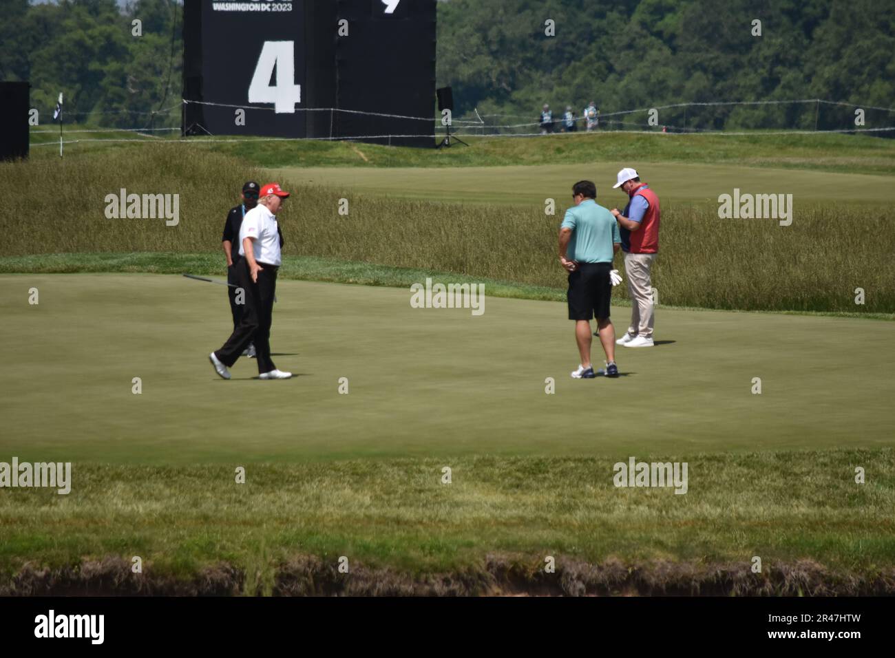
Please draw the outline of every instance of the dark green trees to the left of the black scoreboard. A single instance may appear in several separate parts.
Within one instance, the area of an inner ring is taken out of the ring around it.
[[[182,3],[137,0],[120,7],[115,0],[4,0],[4,6],[0,80],[30,81],[40,124],[50,123],[63,91],[66,123],[180,125]],[[141,21],[139,37],[133,35],[134,19]],[[153,115],[172,106],[167,114]]]

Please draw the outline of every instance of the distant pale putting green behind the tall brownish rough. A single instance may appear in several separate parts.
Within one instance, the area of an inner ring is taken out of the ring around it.
[[[592,165],[542,165],[538,167],[289,167],[269,169],[269,175],[292,184],[329,185],[352,192],[433,201],[474,203],[539,203],[553,198],[559,205],[571,197],[572,184],[590,179],[597,184],[597,201],[609,208],[621,205],[625,196],[613,190],[620,167],[635,164],[644,181],[658,191],[662,201],[677,203],[718,202],[720,194],[734,188],[753,194],[791,193],[794,204],[817,202],[892,203],[895,185],[891,176],[837,174],[772,167],[690,165],[672,162],[598,162]]]

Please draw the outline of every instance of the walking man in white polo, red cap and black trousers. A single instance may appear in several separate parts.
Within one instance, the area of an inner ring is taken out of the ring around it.
[[[243,258],[237,266],[237,277],[245,292],[243,316],[224,346],[209,355],[215,372],[225,380],[230,379],[227,369],[251,342],[255,344],[260,380],[292,377],[292,372],[277,370],[270,359],[270,324],[277,292],[277,269],[282,262],[277,212],[288,196],[289,192],[281,190],[277,183],[264,185],[258,205],[245,213],[240,226],[239,255]]]

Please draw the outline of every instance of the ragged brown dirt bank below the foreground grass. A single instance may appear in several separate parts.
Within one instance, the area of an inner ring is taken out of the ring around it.
[[[874,576],[831,571],[811,560],[775,564],[753,573],[748,564],[691,564],[652,561],[627,565],[620,560],[588,564],[556,560],[555,572],[542,562],[514,556],[490,556],[480,568],[412,574],[390,568],[337,565],[316,557],[298,557],[279,565],[270,593],[275,596],[481,596],[481,595],[738,595],[845,596],[895,594],[895,568]],[[261,585],[246,591],[240,568],[219,564],[192,577],[162,576],[150,567],[132,573],[120,558],[84,561],[77,567],[26,565],[0,582],[3,596],[235,596],[263,594]]]

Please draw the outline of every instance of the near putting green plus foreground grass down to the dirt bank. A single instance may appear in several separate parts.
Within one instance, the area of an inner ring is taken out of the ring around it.
[[[141,555],[179,576],[260,569],[269,590],[295,555],[409,572],[494,553],[866,574],[895,560],[889,323],[660,308],[660,345],[619,348],[626,376],[571,380],[562,303],[488,297],[473,317],[284,280],[272,344],[297,378],[252,380],[241,360],[223,381],[206,358],[229,331],[221,286],[0,280],[0,460],[73,463],[68,496],[0,491],[6,574]],[[686,495],[615,488],[631,456],[687,461]]]

